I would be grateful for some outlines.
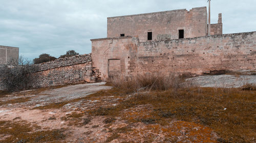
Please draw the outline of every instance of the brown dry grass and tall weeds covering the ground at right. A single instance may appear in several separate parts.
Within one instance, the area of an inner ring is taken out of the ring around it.
[[[169,84],[175,86],[162,86],[165,81],[162,80],[162,83],[158,81],[162,79],[161,77],[148,80],[147,76],[145,76],[145,81],[143,78],[140,78],[142,81],[135,81],[136,78],[119,77],[118,79],[111,80],[116,86],[115,90],[122,90],[126,93],[135,91],[133,96],[120,102],[118,106],[92,109],[91,115],[116,117],[126,109],[151,105],[153,108],[150,115],[141,117],[139,114],[143,113],[138,113],[136,118],[130,117],[129,122],[158,123],[164,126],[168,119],[181,120],[202,124],[213,129],[220,137],[219,142],[256,141],[256,91],[253,90],[254,87],[244,88],[250,90],[199,88],[181,86],[179,82]],[[151,92],[139,92],[138,89],[142,87]],[[113,134],[111,139],[117,137],[118,134]]]

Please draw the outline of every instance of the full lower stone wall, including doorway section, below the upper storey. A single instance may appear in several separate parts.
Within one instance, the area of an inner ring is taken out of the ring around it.
[[[115,63],[120,64],[120,74],[124,75],[256,70],[256,32],[145,42],[131,36],[93,39],[93,67],[103,80],[112,72],[110,60],[120,60]]]

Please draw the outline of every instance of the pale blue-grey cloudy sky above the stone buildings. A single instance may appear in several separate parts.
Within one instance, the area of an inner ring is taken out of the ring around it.
[[[19,47],[32,60],[68,50],[91,53],[91,41],[106,37],[106,17],[191,9],[207,0],[0,0],[0,45]],[[223,33],[256,31],[256,0],[212,0],[211,23],[222,13]]]

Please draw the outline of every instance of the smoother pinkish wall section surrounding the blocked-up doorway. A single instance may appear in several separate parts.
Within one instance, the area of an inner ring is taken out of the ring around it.
[[[99,70],[102,79],[109,76],[110,60],[120,60],[120,72],[127,75],[130,57],[136,56],[136,44],[131,36],[118,38],[92,39],[93,68]]]

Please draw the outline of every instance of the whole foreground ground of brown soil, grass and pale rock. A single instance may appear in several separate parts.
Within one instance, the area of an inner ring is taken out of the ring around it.
[[[0,97],[0,142],[256,141],[255,90],[39,90]]]

